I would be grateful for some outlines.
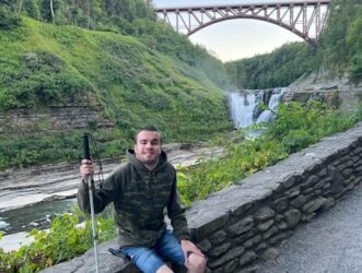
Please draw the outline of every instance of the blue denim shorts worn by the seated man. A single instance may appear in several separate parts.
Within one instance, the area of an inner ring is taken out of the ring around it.
[[[152,247],[124,247],[122,254],[131,259],[142,272],[155,273],[165,262],[185,263],[185,256],[176,236],[168,229]]]

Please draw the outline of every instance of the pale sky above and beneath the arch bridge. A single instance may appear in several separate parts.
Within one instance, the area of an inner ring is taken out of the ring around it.
[[[264,2],[290,0],[153,0],[156,8]],[[283,44],[303,40],[280,26],[250,19],[226,20],[212,24],[190,35],[189,39],[224,62],[271,52]]]

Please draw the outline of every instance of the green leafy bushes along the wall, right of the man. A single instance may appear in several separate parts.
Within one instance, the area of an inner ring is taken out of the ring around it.
[[[226,145],[220,159],[200,161],[197,166],[178,169],[182,200],[191,205],[240,179],[276,164],[289,154],[318,142],[322,138],[352,127],[360,116],[346,116],[318,102],[311,105],[281,105],[276,122],[254,140]]]

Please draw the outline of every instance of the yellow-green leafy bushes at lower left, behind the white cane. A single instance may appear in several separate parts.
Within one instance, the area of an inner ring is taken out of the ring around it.
[[[1,272],[38,272],[62,261],[73,259],[93,246],[90,216],[74,209],[72,214],[58,216],[48,232],[33,229],[34,241],[12,252],[0,249]],[[83,227],[81,219],[86,219]],[[107,214],[96,217],[98,242],[116,236],[115,223]]]

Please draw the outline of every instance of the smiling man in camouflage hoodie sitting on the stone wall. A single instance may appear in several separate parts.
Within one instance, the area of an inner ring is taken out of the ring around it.
[[[101,212],[113,202],[120,251],[145,273],[173,272],[165,261],[185,264],[188,272],[206,270],[206,258],[189,240],[189,229],[179,203],[176,170],[161,149],[161,133],[153,127],[141,129],[135,150],[128,150],[128,163],[105,179],[94,194],[94,210]],[[78,191],[81,210],[90,212],[87,178],[91,161],[80,167],[82,182]],[[173,226],[166,229],[164,210]]]

